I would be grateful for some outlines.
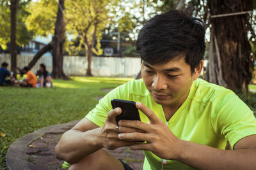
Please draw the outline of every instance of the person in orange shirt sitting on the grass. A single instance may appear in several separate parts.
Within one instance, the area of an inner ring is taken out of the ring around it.
[[[23,71],[27,76],[24,80],[19,81],[19,85],[21,87],[36,87],[36,75],[30,71],[29,67],[24,67]]]

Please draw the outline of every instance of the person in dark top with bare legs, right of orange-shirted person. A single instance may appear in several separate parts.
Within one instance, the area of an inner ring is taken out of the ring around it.
[[[48,83],[53,87],[51,74],[46,70],[44,64],[40,64],[39,70],[36,72],[36,76],[39,76],[37,81],[39,85],[38,87],[48,87]]]

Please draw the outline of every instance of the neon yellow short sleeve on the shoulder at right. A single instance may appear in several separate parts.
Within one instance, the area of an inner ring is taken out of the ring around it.
[[[234,92],[225,92],[214,103],[216,132],[225,137],[232,148],[240,139],[256,134],[253,111]]]

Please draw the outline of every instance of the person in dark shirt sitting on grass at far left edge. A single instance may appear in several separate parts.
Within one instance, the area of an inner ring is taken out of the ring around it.
[[[3,62],[0,68],[0,85],[12,85],[15,83],[15,78],[12,76],[10,71],[8,71],[7,67],[9,64],[7,62]],[[6,80],[6,78],[9,78]]]

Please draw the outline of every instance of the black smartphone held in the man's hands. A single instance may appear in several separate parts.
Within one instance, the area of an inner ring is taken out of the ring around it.
[[[111,100],[112,108],[121,108],[122,113],[116,116],[116,123],[119,120],[140,120],[139,110],[136,108],[136,103],[134,101],[125,101],[121,99]]]

